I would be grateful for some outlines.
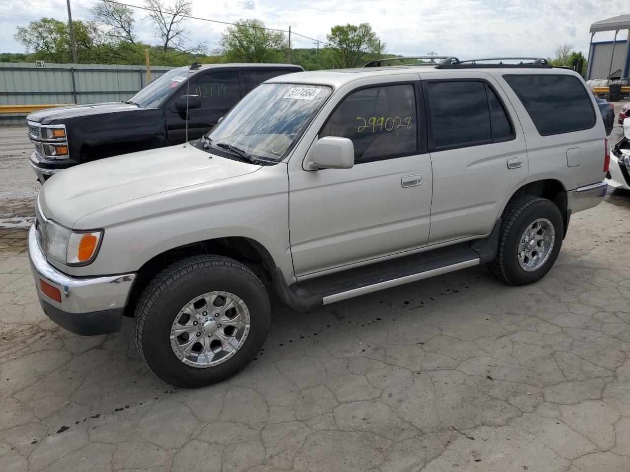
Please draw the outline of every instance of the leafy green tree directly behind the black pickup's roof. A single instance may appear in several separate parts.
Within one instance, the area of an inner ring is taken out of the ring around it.
[[[226,62],[285,62],[287,38],[282,31],[265,30],[265,23],[249,19],[236,21],[221,33],[215,53]]]

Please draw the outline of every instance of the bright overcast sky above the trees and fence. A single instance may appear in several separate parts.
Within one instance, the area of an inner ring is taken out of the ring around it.
[[[122,0],[125,1],[125,0]],[[169,0],[166,0],[168,3]],[[91,0],[71,0],[72,16],[86,18]],[[125,3],[142,5],[141,0]],[[602,6],[605,5],[605,9]],[[193,0],[193,15],[212,20],[258,18],[266,26],[292,30],[326,40],[331,26],[367,22],[387,43],[387,52],[402,55],[455,55],[460,58],[495,55],[553,56],[559,43],[571,43],[588,55],[588,29],[594,21],[630,13],[627,0]],[[0,0],[0,52],[23,52],[13,35],[16,26],[42,16],[67,20],[64,0]],[[146,12],[136,10],[136,33],[152,43]],[[209,51],[226,26],[188,21],[193,40],[205,41]],[[598,33],[595,40],[612,39]],[[627,38],[627,31],[619,33]],[[294,47],[314,47],[292,37]]]

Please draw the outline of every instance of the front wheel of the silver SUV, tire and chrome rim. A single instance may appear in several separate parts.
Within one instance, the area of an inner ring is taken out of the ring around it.
[[[247,267],[227,257],[188,257],[157,274],[142,293],[135,346],[165,382],[201,387],[247,366],[270,319],[265,287]]]

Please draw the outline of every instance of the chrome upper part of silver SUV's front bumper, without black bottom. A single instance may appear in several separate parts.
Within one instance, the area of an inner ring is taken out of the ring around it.
[[[52,306],[55,312],[62,312],[70,317],[76,315],[74,319],[78,320],[81,315],[88,313],[113,310],[122,313],[127,305],[134,284],[134,273],[95,278],[71,277],[61,273],[48,263],[37,244],[35,225],[31,225],[28,230],[28,256],[37,295],[40,301]],[[42,293],[40,279],[59,289],[61,303]],[[48,312],[47,315],[52,318]]]

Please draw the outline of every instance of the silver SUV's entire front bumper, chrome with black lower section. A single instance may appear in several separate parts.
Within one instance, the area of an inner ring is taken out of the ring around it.
[[[120,330],[122,315],[135,274],[103,277],[71,277],[51,266],[37,244],[35,225],[28,230],[28,257],[43,311],[75,334],[95,335]],[[42,293],[44,281],[59,289],[61,301]]]

